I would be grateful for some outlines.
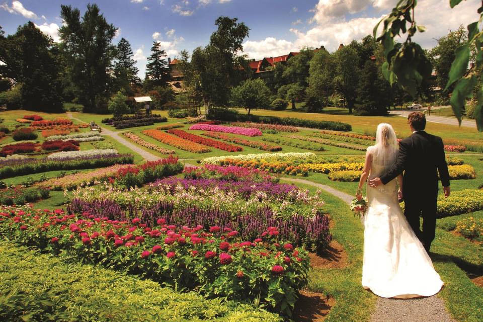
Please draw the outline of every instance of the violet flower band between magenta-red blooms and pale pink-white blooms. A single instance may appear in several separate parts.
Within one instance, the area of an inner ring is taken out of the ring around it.
[[[255,181],[229,181],[216,179],[181,179],[169,177],[156,181],[154,186],[169,186],[170,192],[173,193],[178,184],[187,190],[189,187],[198,189],[209,189],[218,187],[222,191],[236,191],[244,198],[249,198],[253,193],[262,191],[275,197],[283,197],[298,188],[288,184],[277,184],[272,182],[255,182]]]

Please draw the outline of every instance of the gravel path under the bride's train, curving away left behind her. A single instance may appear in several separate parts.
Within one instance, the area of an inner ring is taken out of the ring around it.
[[[342,199],[350,204],[353,196],[330,186],[305,179],[281,178],[283,181],[310,185]],[[362,285],[361,285],[362,287]],[[389,299],[379,297],[370,322],[454,322],[438,296],[416,299]]]

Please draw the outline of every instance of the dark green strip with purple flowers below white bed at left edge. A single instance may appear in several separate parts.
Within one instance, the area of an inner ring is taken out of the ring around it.
[[[0,161],[0,179],[31,175],[56,170],[80,170],[108,167],[114,164],[130,164],[131,154],[94,154],[83,157],[64,157],[61,159],[21,158]],[[77,174],[76,176],[81,176]]]

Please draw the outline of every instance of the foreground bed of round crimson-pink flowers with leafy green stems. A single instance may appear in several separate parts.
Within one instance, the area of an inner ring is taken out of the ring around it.
[[[2,234],[21,244],[207,296],[260,301],[289,316],[307,283],[307,252],[268,232],[261,240],[244,241],[236,231],[215,228],[177,227],[162,219],[147,228],[139,219],[82,218],[57,210],[3,213],[0,223]]]

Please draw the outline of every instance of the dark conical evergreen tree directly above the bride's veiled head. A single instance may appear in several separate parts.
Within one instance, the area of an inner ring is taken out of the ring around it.
[[[387,113],[389,102],[385,97],[383,81],[378,75],[376,64],[366,60],[357,87],[356,115],[384,115]]]

